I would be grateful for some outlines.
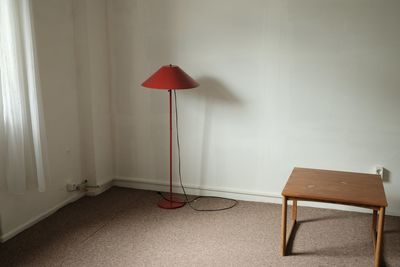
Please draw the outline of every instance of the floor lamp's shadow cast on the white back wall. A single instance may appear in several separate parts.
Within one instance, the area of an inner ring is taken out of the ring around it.
[[[233,108],[243,106],[243,102],[230,90],[222,81],[211,77],[200,77],[196,79],[200,87],[195,90],[194,97],[202,99],[205,102],[204,121],[203,121],[203,138],[202,151],[200,160],[200,187],[209,184],[206,175],[208,175],[208,161],[210,159],[211,137],[213,136],[213,117],[223,111],[229,112]],[[218,107],[218,109],[216,108]],[[222,140],[221,140],[222,141]],[[216,140],[215,142],[219,142]]]

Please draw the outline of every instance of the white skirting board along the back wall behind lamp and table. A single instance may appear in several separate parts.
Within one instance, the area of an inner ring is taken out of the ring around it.
[[[113,180],[113,185],[118,187],[135,188],[135,189],[143,189],[151,191],[161,191],[161,192],[169,191],[169,184],[167,182],[150,180],[150,179],[141,179],[141,178],[116,177]],[[182,193],[182,188],[179,183],[173,182],[172,187],[174,192]],[[187,185],[187,184],[185,184],[185,190],[187,194],[192,194],[192,195],[218,196],[218,197],[227,197],[244,201],[256,201],[256,202],[266,202],[275,204],[282,203],[281,195],[279,193],[272,193],[272,192],[246,191],[234,188],[208,187],[208,186]],[[298,205],[304,207],[313,207],[313,208],[371,213],[370,209],[364,209],[346,205],[338,205],[338,204],[329,204],[329,203],[299,201]],[[400,216],[400,211],[393,211],[387,209],[386,214],[392,216]]]

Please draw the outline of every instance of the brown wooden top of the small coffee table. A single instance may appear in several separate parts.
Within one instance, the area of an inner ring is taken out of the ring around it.
[[[376,174],[294,168],[282,195],[366,207],[387,207],[382,179]]]

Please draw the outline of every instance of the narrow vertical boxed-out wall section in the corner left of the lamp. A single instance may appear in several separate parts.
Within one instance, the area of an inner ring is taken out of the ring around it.
[[[114,177],[106,0],[73,0],[83,177]]]

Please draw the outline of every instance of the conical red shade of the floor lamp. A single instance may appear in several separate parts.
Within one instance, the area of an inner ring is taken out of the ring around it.
[[[178,66],[165,65],[144,81],[142,86],[151,89],[175,90],[190,89],[199,84]]]

